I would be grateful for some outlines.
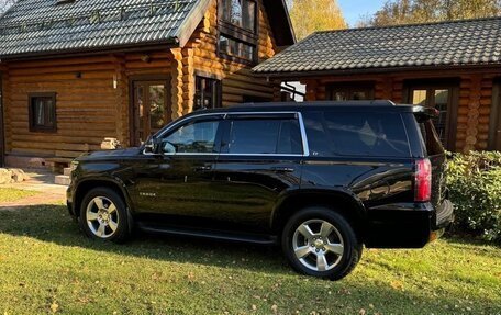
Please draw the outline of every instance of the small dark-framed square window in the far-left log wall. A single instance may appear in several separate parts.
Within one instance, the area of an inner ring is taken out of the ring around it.
[[[30,131],[56,132],[56,93],[30,94]]]

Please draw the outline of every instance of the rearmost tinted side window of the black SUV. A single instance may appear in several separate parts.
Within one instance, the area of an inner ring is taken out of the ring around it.
[[[312,156],[410,156],[399,114],[312,112],[304,121]]]

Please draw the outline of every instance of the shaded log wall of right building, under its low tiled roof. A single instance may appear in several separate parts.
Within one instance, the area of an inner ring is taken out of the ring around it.
[[[375,99],[392,100],[402,103],[407,100],[405,81],[457,79],[459,81],[456,144],[457,151],[485,150],[489,144],[489,125],[492,104],[493,82],[499,78],[501,68],[488,69],[443,69],[435,71],[402,71],[352,76],[319,76],[302,79],[307,85],[307,100],[326,100],[330,83],[372,81]]]

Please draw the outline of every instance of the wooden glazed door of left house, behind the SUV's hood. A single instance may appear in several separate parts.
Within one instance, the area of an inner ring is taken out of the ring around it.
[[[138,146],[171,121],[168,80],[133,82],[132,145]]]

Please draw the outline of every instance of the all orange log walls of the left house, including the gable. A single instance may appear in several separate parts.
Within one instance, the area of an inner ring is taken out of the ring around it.
[[[258,1],[259,61],[277,50],[263,1]],[[278,93],[272,83],[252,76],[250,65],[220,58],[216,41],[213,0],[185,47],[0,63],[5,153],[14,158],[71,158],[100,149],[105,137],[131,145],[131,80],[145,75],[170,76],[172,120],[192,111],[196,75],[222,80],[225,106],[242,102],[244,95],[272,99]],[[57,132],[30,132],[29,94],[35,92],[56,93]]]

